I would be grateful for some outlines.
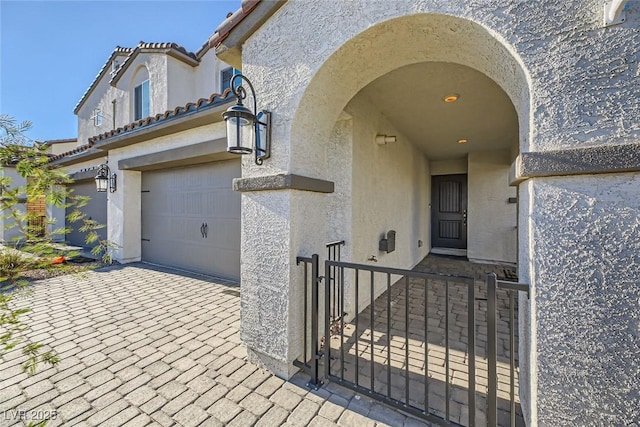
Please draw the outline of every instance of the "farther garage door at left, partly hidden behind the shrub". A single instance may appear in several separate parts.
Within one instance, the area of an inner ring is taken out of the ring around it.
[[[98,224],[104,225],[103,228],[96,230],[100,240],[107,239],[107,193],[98,193],[96,191],[96,183],[94,180],[75,182],[69,186],[70,190],[73,190],[74,196],[88,196],[91,199],[86,206],[80,208],[85,213],[87,219],[93,219]],[[65,211],[65,217],[73,209],[67,208]],[[67,226],[71,228],[71,233],[67,234],[66,241],[73,246],[86,247],[87,233],[80,232],[78,229],[82,227],[81,221],[74,223],[67,223]],[[95,246],[93,244],[92,246]]]

